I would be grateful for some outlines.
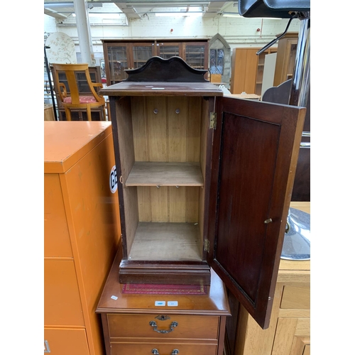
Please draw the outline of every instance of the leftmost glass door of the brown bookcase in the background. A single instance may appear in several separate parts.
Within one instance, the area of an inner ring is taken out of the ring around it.
[[[107,54],[109,56],[109,73],[110,82],[107,84],[116,84],[116,82],[121,82],[125,80],[128,75],[126,75],[125,69],[128,67],[127,58],[127,46],[126,45],[108,45]]]

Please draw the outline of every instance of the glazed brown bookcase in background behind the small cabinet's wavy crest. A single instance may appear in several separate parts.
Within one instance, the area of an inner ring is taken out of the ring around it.
[[[179,56],[195,69],[208,67],[208,40],[102,40],[107,85],[125,80],[127,69],[141,67],[158,55],[163,59]]]

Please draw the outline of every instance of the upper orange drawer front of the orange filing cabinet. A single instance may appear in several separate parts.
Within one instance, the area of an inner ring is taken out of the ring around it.
[[[44,175],[44,256],[72,257],[58,174]]]

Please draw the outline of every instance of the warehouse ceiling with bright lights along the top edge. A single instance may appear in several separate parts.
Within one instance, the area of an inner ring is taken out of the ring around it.
[[[237,13],[237,1],[183,1],[183,0],[91,0],[87,1],[89,13],[124,13],[127,18],[142,18],[146,15],[155,16],[204,16],[214,17],[225,11]],[[45,0],[44,13],[64,20],[75,14],[74,1]]]

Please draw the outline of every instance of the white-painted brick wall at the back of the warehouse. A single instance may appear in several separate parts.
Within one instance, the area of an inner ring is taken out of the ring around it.
[[[70,16],[71,17],[71,16]],[[44,15],[45,38],[50,33],[62,32],[74,40],[77,53],[80,46],[77,38],[77,28],[70,24],[72,18],[63,23],[56,23],[55,18]],[[190,18],[190,17],[155,17],[146,16],[141,19],[131,19],[126,26],[92,25],[91,37],[94,56],[99,65],[99,60],[104,58],[102,39],[107,38],[212,38],[219,33],[229,43],[231,48],[263,47],[275,38],[275,35],[283,33],[288,20],[273,20],[261,18]],[[299,20],[293,20],[288,31],[298,31]],[[173,31],[170,31],[173,29]],[[259,30],[259,31],[258,31]],[[80,55],[79,55],[80,58]]]

